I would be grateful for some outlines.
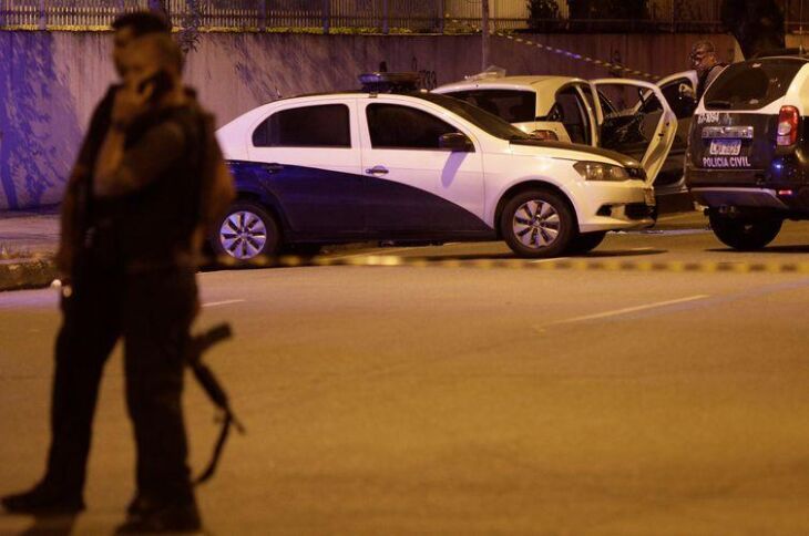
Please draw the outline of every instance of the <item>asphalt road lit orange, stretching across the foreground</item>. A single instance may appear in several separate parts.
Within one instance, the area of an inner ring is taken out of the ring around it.
[[[809,224],[737,254],[700,217],[588,257],[809,260]],[[351,255],[509,258],[500,244]],[[345,252],[342,255],[346,255]],[[307,267],[199,276],[248,433],[198,491],[213,534],[809,534],[809,276]],[[48,444],[55,291],[0,295],[0,493]],[[121,357],[72,534],[133,493]],[[192,464],[213,410],[191,381]],[[0,534],[68,520],[0,515]]]

